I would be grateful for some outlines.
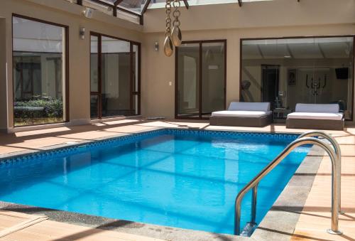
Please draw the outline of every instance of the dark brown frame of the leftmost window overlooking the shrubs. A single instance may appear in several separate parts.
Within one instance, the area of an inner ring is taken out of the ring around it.
[[[65,65],[65,73],[63,73],[63,76],[65,78],[63,84],[65,85],[65,96],[63,96],[63,100],[65,100],[65,105],[63,105],[63,114],[65,114],[65,118],[63,118],[62,122],[51,122],[51,123],[43,123],[43,124],[26,124],[26,125],[21,125],[21,126],[15,126],[15,112],[14,112],[14,108],[13,108],[13,104],[14,104],[14,100],[15,100],[15,92],[14,92],[14,85],[13,85],[13,60],[14,60],[14,55],[13,53],[16,52],[13,50],[13,18],[23,18],[26,20],[30,20],[30,21],[36,21],[38,23],[46,23],[49,25],[53,25],[53,26],[58,26],[61,28],[64,28],[65,30],[65,41],[63,44],[65,44],[65,51],[64,54],[65,57],[63,58],[63,60],[65,61],[64,65]],[[31,16],[24,16],[21,14],[16,14],[16,13],[12,13],[11,14],[11,65],[12,65],[12,69],[11,69],[11,73],[12,73],[12,124],[13,124],[13,128],[19,128],[19,127],[35,127],[38,125],[50,125],[50,124],[61,124],[61,123],[67,123],[70,122],[70,104],[69,104],[69,97],[70,97],[70,93],[69,93],[69,26],[64,25],[62,23],[55,23],[52,21],[46,21],[40,18],[34,18]]]

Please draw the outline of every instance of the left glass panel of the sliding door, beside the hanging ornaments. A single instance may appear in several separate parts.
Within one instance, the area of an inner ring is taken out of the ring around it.
[[[200,118],[200,43],[178,49],[177,116]]]

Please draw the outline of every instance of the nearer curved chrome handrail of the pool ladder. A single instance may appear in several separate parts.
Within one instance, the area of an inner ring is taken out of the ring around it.
[[[235,215],[234,215],[234,234],[239,235],[240,234],[240,220],[241,220],[241,201],[243,200],[244,196],[248,191],[253,188],[253,201],[252,201],[252,208],[251,208],[251,223],[255,224],[256,220],[256,196],[257,196],[257,187],[258,183],[263,179],[264,176],[266,176],[270,171],[275,168],[275,166],[278,166],[280,162],[285,159],[288,154],[290,154],[293,149],[297,148],[298,146],[302,146],[305,144],[313,144],[316,146],[322,147],[327,154],[329,155],[331,161],[332,161],[332,225],[331,229],[327,230],[327,232],[332,233],[332,234],[342,234],[341,231],[338,229],[338,221],[339,221],[339,205],[338,205],[338,197],[339,197],[339,178],[337,178],[337,174],[339,173],[339,159],[337,158],[337,154],[335,154],[335,151],[324,141],[321,141],[320,139],[316,139],[314,137],[303,137],[296,139],[293,141],[291,144],[286,146],[286,148],[276,156],[273,161],[271,161],[268,166],[263,168],[263,170],[258,173],[251,181],[249,181],[244,188],[239,191],[238,196],[236,196],[236,201],[235,201]]]

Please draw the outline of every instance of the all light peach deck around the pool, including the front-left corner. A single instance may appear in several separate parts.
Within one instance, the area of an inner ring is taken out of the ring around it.
[[[192,127],[200,129],[229,129],[254,132],[305,132],[309,130],[286,129],[282,124],[273,124],[263,128],[248,127],[209,127],[207,122],[157,121],[146,122],[140,119],[105,122],[78,127],[59,127],[16,134],[0,134],[1,154],[18,151],[37,151],[48,146],[71,142],[141,132],[157,127]],[[329,158],[324,156],[315,176],[315,182],[301,212],[300,219],[290,240],[355,240],[355,127],[342,131],[327,131],[336,136],[342,148],[342,210],[339,229],[343,235],[329,235],[325,230],[330,227],[331,203],[331,166]],[[1,214],[1,213],[0,213]],[[26,215],[24,215],[25,217]],[[31,217],[30,217],[31,218]],[[16,225],[26,218],[6,218],[0,215],[0,231]],[[273,232],[271,230],[271,232]],[[119,232],[96,230],[89,227],[57,223],[42,220],[40,223],[1,237],[0,240],[152,240],[146,237],[127,235]]]

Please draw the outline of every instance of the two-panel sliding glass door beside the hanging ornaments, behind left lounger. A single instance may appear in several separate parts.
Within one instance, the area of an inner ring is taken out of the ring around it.
[[[225,108],[226,41],[183,43],[175,72],[176,118],[204,119]]]

